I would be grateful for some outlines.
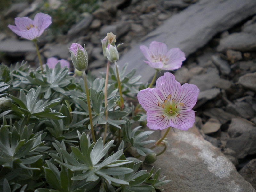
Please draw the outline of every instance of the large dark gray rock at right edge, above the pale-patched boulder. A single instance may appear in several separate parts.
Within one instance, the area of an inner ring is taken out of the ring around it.
[[[256,127],[251,122],[241,118],[233,118],[228,128],[230,138],[227,148],[236,152],[238,159],[256,153]]]

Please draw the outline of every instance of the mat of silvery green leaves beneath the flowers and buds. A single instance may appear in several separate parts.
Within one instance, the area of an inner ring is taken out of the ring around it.
[[[122,91],[133,98],[142,83],[135,69],[126,73],[126,68],[120,71]],[[131,146],[145,156],[152,152],[147,144],[155,141],[147,140],[153,131],[134,128],[145,120],[145,111],[127,101],[123,110],[118,106],[115,69],[107,85],[108,105],[105,78],[88,75],[95,143],[84,81],[71,76],[68,68],[45,66],[42,74],[17,63],[1,64],[0,69],[0,98],[11,102],[0,111],[0,191],[155,191],[169,182],[158,179],[160,170],[141,170],[141,161],[125,157]]]

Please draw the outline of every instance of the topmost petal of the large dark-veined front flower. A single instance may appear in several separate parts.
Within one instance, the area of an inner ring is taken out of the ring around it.
[[[170,72],[165,72],[163,76],[156,80],[156,88],[160,90],[166,99],[171,94],[171,98],[176,99],[180,94],[181,85],[175,80],[175,76]]]

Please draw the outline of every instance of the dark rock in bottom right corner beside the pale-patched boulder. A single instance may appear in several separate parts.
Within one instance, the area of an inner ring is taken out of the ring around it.
[[[256,159],[252,159],[239,171],[246,181],[256,189]]]

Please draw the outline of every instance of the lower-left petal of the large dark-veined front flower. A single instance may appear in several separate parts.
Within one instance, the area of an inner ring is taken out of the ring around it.
[[[157,111],[147,111],[147,126],[149,129],[165,129],[170,127],[172,122],[170,118],[165,117],[163,118],[161,115],[163,113]]]

